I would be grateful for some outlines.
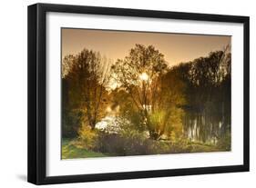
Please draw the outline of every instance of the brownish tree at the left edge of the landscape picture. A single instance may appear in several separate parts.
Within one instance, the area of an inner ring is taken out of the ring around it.
[[[108,83],[108,61],[99,53],[84,49],[63,59],[63,80],[67,84],[69,110],[78,111],[80,123],[95,128],[104,116]]]

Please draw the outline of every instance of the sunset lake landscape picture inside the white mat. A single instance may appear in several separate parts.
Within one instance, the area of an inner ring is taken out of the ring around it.
[[[61,159],[231,151],[231,36],[62,27]]]

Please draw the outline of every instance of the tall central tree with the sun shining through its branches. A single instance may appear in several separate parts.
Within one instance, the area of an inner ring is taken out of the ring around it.
[[[160,78],[167,71],[164,55],[153,45],[136,45],[124,59],[118,59],[112,67],[114,77],[128,94],[138,113],[141,124],[157,139],[149,114],[157,110]]]

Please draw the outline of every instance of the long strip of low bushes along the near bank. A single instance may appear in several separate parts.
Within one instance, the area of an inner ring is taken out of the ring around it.
[[[115,126],[109,129],[92,130],[90,126],[82,125],[79,129],[79,137],[76,146],[97,153],[106,153],[112,156],[165,154],[165,153],[189,153],[202,152],[211,147],[189,143],[188,140],[179,137],[172,140],[153,140],[148,138],[147,132],[135,129],[125,119],[117,119]],[[118,126],[119,124],[119,126]],[[119,128],[117,128],[119,127]],[[206,148],[206,149],[205,149]]]

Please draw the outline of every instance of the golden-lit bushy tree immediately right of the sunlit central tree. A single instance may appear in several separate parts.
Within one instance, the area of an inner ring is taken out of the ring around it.
[[[172,138],[182,136],[182,119],[184,111],[180,107],[186,104],[186,84],[180,79],[180,73],[176,66],[169,68],[166,74],[161,76],[161,84],[157,97],[157,114],[159,126],[156,126],[156,136],[162,134]],[[155,121],[154,121],[155,122]],[[156,124],[156,123],[155,123]]]

